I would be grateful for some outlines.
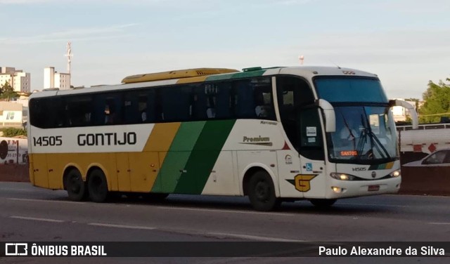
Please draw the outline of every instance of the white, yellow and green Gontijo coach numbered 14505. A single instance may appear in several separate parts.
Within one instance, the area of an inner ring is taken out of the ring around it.
[[[73,201],[231,195],[270,211],[401,184],[390,111],[401,102],[360,70],[175,70],[33,93],[29,103],[30,181]]]

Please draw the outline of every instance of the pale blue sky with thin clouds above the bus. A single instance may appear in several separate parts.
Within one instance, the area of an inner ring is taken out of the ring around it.
[[[72,85],[193,67],[350,67],[389,98],[450,77],[449,0],[0,0],[0,66]]]

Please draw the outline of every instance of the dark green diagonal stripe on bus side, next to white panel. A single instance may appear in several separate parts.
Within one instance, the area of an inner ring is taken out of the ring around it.
[[[236,120],[207,121],[175,193],[201,194]]]

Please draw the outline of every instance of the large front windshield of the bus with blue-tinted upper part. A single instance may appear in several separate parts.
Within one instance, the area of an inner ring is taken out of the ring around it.
[[[335,108],[336,131],[327,135],[330,161],[373,164],[397,159],[397,134],[378,79],[315,81],[319,97]]]

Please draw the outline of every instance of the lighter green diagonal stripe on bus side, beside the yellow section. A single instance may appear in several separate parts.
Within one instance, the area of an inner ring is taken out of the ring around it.
[[[181,123],[160,172],[153,185],[152,192],[172,193],[175,190],[184,167],[206,121]]]

